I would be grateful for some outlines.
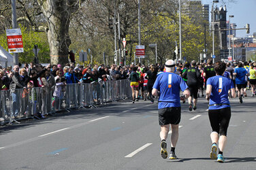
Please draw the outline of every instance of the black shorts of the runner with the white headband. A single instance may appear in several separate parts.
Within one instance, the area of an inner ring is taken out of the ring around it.
[[[158,109],[159,125],[179,124],[180,107],[166,107]]]

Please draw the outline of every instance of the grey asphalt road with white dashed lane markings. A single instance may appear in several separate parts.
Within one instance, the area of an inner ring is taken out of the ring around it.
[[[249,96],[230,100],[225,163],[209,157],[207,103],[199,98],[193,112],[182,103],[177,160],[160,156],[157,103],[115,102],[1,126],[0,169],[256,169],[256,98]]]

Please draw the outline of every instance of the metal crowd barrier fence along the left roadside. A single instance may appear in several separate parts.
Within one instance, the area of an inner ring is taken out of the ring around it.
[[[56,90],[56,89],[59,90]],[[80,107],[96,107],[109,101],[131,97],[129,80],[91,84],[57,84],[40,88],[0,91],[0,122],[42,118],[47,114]]]

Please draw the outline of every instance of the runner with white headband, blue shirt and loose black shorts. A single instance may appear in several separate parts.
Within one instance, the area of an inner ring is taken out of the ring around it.
[[[176,159],[175,147],[178,141],[178,124],[180,122],[180,100],[185,100],[190,95],[187,84],[174,73],[175,63],[173,60],[165,62],[165,73],[157,76],[153,86],[152,94],[158,95],[159,92],[159,125],[161,126],[161,156],[167,158],[166,139],[170,124],[172,125],[171,152],[170,159]],[[180,90],[183,97],[180,97]]]

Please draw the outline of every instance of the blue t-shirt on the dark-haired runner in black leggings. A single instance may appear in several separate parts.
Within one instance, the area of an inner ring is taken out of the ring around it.
[[[229,104],[228,92],[229,89],[234,88],[233,81],[221,75],[208,78],[206,84],[212,85],[212,92],[210,93],[210,103],[208,109],[223,109],[230,107],[230,105],[214,105],[214,104]]]

